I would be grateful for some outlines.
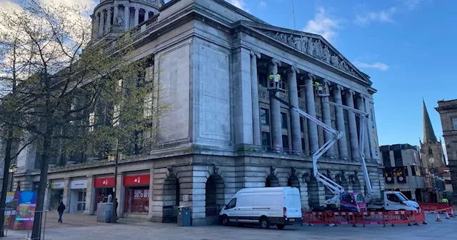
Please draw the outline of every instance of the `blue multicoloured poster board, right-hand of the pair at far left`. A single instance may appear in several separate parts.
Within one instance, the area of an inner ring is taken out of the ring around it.
[[[14,229],[31,229],[34,226],[36,191],[21,191]]]

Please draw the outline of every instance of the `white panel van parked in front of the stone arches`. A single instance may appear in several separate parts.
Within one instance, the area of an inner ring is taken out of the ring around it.
[[[276,225],[301,224],[300,192],[294,187],[241,189],[219,213],[222,224],[260,224],[262,229]]]

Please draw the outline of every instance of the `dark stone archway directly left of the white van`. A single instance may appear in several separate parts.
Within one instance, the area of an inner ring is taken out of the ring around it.
[[[225,205],[224,180],[219,175],[211,175],[206,180],[205,187],[205,216],[217,217]],[[207,221],[208,222],[208,221]]]

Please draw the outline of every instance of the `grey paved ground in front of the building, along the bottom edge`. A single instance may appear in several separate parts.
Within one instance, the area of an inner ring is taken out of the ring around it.
[[[46,221],[45,240],[76,239],[189,239],[189,240],[253,240],[253,239],[455,239],[457,218],[436,222],[436,215],[427,216],[428,225],[394,227],[381,225],[359,226],[286,226],[259,229],[239,226],[191,226],[178,227],[176,224],[158,224],[139,220],[120,219],[119,224],[97,223],[95,216],[64,214],[64,224],[57,222],[56,212],[51,212]],[[24,239],[27,231],[9,231],[6,239]]]

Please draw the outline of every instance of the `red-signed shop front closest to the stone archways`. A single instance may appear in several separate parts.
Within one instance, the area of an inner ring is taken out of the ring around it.
[[[124,212],[144,214],[149,211],[149,174],[124,176]]]

